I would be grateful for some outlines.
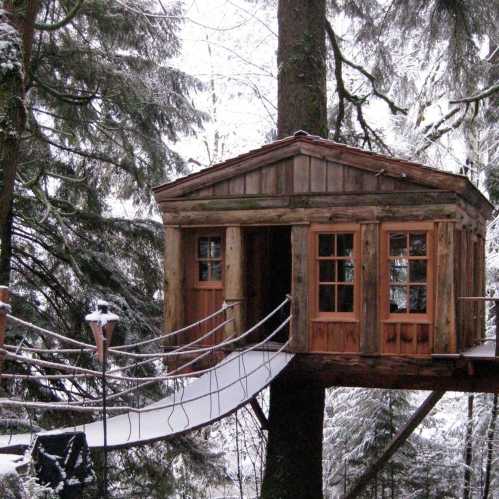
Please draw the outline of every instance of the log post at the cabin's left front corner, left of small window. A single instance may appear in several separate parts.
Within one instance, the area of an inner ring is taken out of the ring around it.
[[[184,262],[182,230],[165,229],[165,332],[170,333],[184,326]],[[176,344],[174,337],[168,343]]]

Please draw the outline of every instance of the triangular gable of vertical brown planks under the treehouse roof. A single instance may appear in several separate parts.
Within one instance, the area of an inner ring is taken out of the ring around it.
[[[326,192],[399,192],[430,190],[413,182],[388,177],[319,159],[298,155],[242,175],[216,182],[192,193],[190,198],[255,194],[309,194]]]

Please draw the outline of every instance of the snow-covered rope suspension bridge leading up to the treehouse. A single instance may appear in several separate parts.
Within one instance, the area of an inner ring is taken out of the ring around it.
[[[31,446],[37,435],[66,432],[84,432],[87,444],[91,448],[130,447],[167,439],[208,425],[233,413],[241,406],[254,400],[256,395],[267,387],[292,360],[293,354],[286,352],[289,341],[283,344],[276,344],[273,341],[279,332],[289,325],[291,314],[286,314],[289,303],[290,297],[286,297],[278,307],[246,331],[225,336],[221,341],[214,342],[209,346],[203,345],[215,338],[217,332],[232,322],[233,319],[228,317],[227,312],[231,307],[237,305],[224,305],[215,313],[168,334],[136,343],[110,347],[107,350],[111,359],[110,368],[103,372],[82,367],[77,362],[70,364],[57,359],[45,360],[47,354],[81,354],[82,352],[98,354],[98,346],[38,327],[10,313],[5,314],[7,321],[32,330],[40,336],[50,338],[60,347],[52,349],[27,347],[24,341],[17,345],[3,345],[0,354],[4,359],[30,366],[34,370],[45,368],[58,372],[56,374],[45,374],[33,370],[33,374],[2,372],[0,378],[36,379],[37,381],[58,380],[64,383],[71,379],[88,380],[104,376],[105,381],[114,386],[114,390],[106,399],[101,396],[79,397],[76,400],[71,398],[71,400],[58,402],[28,401],[18,398],[0,399],[0,407],[9,407],[13,410],[57,410],[90,413],[91,415],[101,414],[104,418],[107,414],[111,415],[107,418],[106,425],[103,425],[102,420],[97,419],[89,424],[44,432],[32,430],[27,433],[11,432],[0,435],[0,449],[3,449],[3,452],[20,451]],[[272,319],[275,321],[276,317],[283,315],[287,315],[287,317],[280,321],[280,324],[263,340],[252,342],[252,337],[258,330],[268,325]],[[213,319],[218,320],[219,324],[193,341],[182,342],[182,337],[187,337],[186,335],[190,330]],[[153,353],[140,351],[145,347],[161,345],[165,340],[173,337],[180,345],[170,351],[160,350]],[[66,345],[68,348],[63,348]],[[215,357],[217,354],[222,358],[218,363],[204,369],[196,369],[201,360],[217,358]],[[44,358],[40,358],[42,356]],[[179,361],[183,357],[186,359],[185,362]],[[133,363],[116,367],[113,359],[119,358],[131,359]],[[174,368],[171,368],[171,363],[165,367],[164,360],[168,358],[175,359]],[[163,361],[164,373],[142,377],[127,374],[134,368],[156,361]],[[131,383],[132,387],[130,387]],[[169,395],[142,407],[123,402],[135,392],[155,383],[167,383]],[[122,385],[126,385],[126,387]],[[117,389],[118,386],[121,388]],[[105,426],[107,426],[107,431],[104,429]]]

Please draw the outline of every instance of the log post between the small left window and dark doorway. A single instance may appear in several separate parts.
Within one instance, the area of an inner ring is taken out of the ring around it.
[[[227,319],[233,319],[225,328],[225,335],[245,331],[245,272],[244,234],[240,226],[227,227],[225,233],[225,302],[235,304],[227,310]],[[250,338],[251,340],[251,338]]]

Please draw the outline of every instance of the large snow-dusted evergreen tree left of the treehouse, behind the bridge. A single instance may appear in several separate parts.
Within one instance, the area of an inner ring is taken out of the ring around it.
[[[158,334],[163,231],[151,187],[184,171],[173,145],[204,118],[190,100],[199,83],[171,64],[180,50],[180,3],[170,4],[160,17],[141,14],[155,6],[19,0],[4,2],[0,14],[0,31],[8,35],[7,44],[0,41],[2,282],[10,281],[16,315],[87,341],[83,317],[97,298],[110,301],[120,315],[116,343]],[[12,110],[12,103],[21,111]],[[16,113],[18,121],[12,118]],[[9,330],[11,344],[21,339],[27,346],[59,346],[23,328]],[[82,354],[79,362],[98,368],[92,355]],[[35,372],[13,362],[4,368]],[[45,401],[100,393],[98,384],[77,380],[29,380],[4,389]],[[140,400],[129,395],[124,401],[142,404],[164,394],[164,387],[152,386],[141,391]],[[3,410],[2,415],[45,428],[85,421],[57,411]],[[124,459],[136,472],[128,482],[112,475],[111,490],[123,484],[136,490],[139,482],[145,496],[185,489],[185,476],[171,470],[157,481],[159,470],[178,459],[185,463],[184,475],[206,463],[210,470],[218,468],[216,461],[209,464],[211,454],[201,451],[196,435],[182,442],[113,453],[111,463]],[[168,455],[174,456],[171,461]],[[94,458],[98,465],[99,453]],[[198,494],[202,480],[192,482],[189,490]]]

